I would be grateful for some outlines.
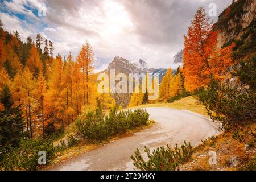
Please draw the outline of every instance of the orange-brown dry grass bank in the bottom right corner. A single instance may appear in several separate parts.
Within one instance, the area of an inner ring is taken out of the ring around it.
[[[247,131],[255,131],[255,129],[256,124],[244,128]],[[234,171],[245,169],[249,162],[256,159],[254,139],[252,135],[244,134],[243,142],[238,142],[238,140],[232,138],[232,132],[221,134],[214,140],[214,145],[210,145],[210,142],[208,142],[196,147],[195,153],[192,155],[192,162],[184,164],[179,169],[204,171]],[[246,145],[251,141],[254,141],[254,147],[247,146],[246,149]],[[217,154],[216,165],[209,164],[210,151],[215,151]]]

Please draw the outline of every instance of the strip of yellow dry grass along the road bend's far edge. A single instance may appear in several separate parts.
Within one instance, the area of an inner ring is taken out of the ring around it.
[[[185,98],[181,98],[180,100],[174,101],[172,103],[147,104],[147,105],[130,107],[129,109],[144,108],[144,107],[169,107],[173,109],[189,110],[189,111],[199,113],[208,117],[205,106],[201,104],[201,102],[195,96],[188,96]]]

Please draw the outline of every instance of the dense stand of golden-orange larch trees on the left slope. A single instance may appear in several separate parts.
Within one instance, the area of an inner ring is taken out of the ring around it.
[[[23,43],[18,32],[10,34],[0,27],[0,91],[9,86],[14,105],[23,111],[29,138],[63,131],[85,107],[96,107],[97,100],[102,100],[104,110],[115,104],[110,94],[97,93],[89,42],[81,47],[77,61],[71,52],[67,59],[53,57],[54,49],[40,34],[35,43],[30,37]]]

